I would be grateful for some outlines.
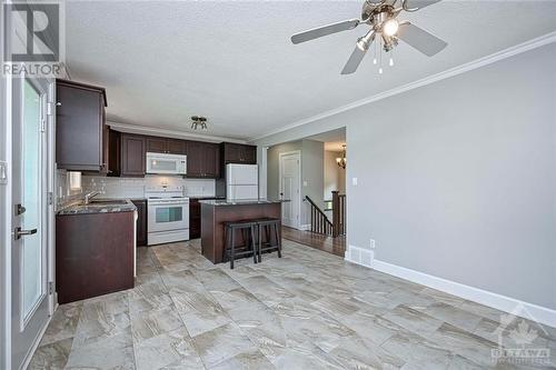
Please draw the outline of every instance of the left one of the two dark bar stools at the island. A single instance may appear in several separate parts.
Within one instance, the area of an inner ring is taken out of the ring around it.
[[[226,244],[224,249],[224,258],[230,260],[230,269],[234,269],[234,260],[236,257],[244,257],[252,253],[252,260],[257,263],[257,244],[255,243],[255,229],[257,223],[252,221],[232,221],[225,222]],[[244,236],[244,246],[236,246],[236,231],[240,231]],[[241,247],[241,250],[236,248]]]

